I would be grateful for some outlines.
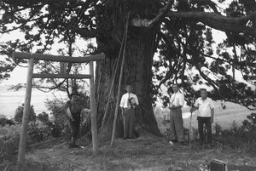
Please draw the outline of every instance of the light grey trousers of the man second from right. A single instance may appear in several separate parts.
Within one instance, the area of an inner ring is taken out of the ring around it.
[[[185,140],[181,108],[171,109],[170,111],[170,132],[171,140],[177,140],[178,142]]]

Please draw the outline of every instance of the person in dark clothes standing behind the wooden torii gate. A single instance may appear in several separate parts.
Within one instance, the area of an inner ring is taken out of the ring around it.
[[[79,100],[79,94],[74,92],[71,94],[71,100],[67,101],[66,104],[67,116],[69,117],[69,123],[72,129],[72,138],[69,144],[70,148],[79,147],[76,145],[76,140],[79,134],[80,120],[81,120],[81,112],[83,111],[83,106]]]

